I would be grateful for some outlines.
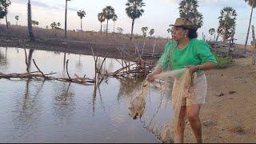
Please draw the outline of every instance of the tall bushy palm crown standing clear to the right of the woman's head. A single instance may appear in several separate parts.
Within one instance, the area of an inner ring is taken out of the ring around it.
[[[226,6],[221,10],[221,16],[219,19],[219,28],[223,31],[223,41],[230,38],[230,34],[235,30],[237,12],[230,6]]]

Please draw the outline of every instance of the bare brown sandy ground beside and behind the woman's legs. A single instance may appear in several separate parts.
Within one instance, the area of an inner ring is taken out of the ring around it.
[[[229,68],[207,71],[206,77],[203,142],[256,142],[256,66],[251,58],[235,59]],[[196,142],[189,122],[185,142]]]

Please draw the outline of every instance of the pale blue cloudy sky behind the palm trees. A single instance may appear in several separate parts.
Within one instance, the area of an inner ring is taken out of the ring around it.
[[[11,0],[9,21],[15,24],[15,15],[19,15],[19,25],[26,26],[26,2],[27,0]],[[113,6],[118,21],[116,28],[122,27],[124,33],[130,33],[131,20],[126,15],[127,0],[71,0],[68,2],[68,29],[77,30],[80,28],[80,19],[77,16],[78,10],[86,11],[86,18],[83,18],[83,29],[98,31],[100,23],[97,15],[106,6]],[[141,18],[135,20],[134,33],[142,34],[142,26],[148,26],[155,30],[155,36],[167,37],[167,28],[170,23],[174,23],[178,18],[178,3],[180,0],[144,0],[146,6],[145,13]],[[32,19],[39,22],[40,27],[50,26],[51,22],[60,22],[64,27],[64,10],[65,0],[31,0]],[[237,10],[237,26],[235,38],[238,43],[244,43],[246,39],[246,30],[250,18],[250,6],[244,0],[198,0],[198,11],[203,14],[203,26],[198,30],[198,38],[202,38],[202,32],[206,34],[206,38],[210,39],[208,30],[212,27],[218,27],[218,17],[220,11],[225,6],[232,6]],[[255,24],[255,14],[253,15],[252,24]],[[1,23],[4,20],[0,21]],[[113,22],[109,23],[110,31],[113,31]],[[250,32],[251,33],[251,32]],[[251,41],[251,34],[250,34]]]

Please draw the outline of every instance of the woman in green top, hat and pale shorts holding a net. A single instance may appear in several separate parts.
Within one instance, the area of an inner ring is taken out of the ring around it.
[[[202,126],[199,119],[200,107],[206,99],[206,75],[204,70],[212,70],[217,66],[216,58],[210,52],[206,42],[198,40],[197,27],[188,18],[177,18],[174,23],[174,41],[167,42],[165,52],[158,60],[154,71],[147,75],[147,79],[154,81],[154,75],[171,67],[172,70],[188,68],[197,75],[194,78],[194,91],[190,96],[182,98],[182,108],[178,118],[178,142],[183,142],[185,130],[185,116],[190,121],[197,142],[202,142]],[[177,99],[181,79],[174,79],[172,102]],[[193,95],[194,94],[194,95]],[[173,106],[175,103],[173,103]]]

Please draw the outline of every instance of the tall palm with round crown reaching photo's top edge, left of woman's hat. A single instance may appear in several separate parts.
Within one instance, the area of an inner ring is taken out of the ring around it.
[[[133,38],[133,32],[134,32],[134,21],[136,18],[140,18],[142,16],[142,13],[144,13],[144,10],[142,9],[142,6],[146,6],[143,0],[128,0],[126,3],[126,14],[129,18],[132,19],[131,24],[131,32],[130,32],[130,39]]]

